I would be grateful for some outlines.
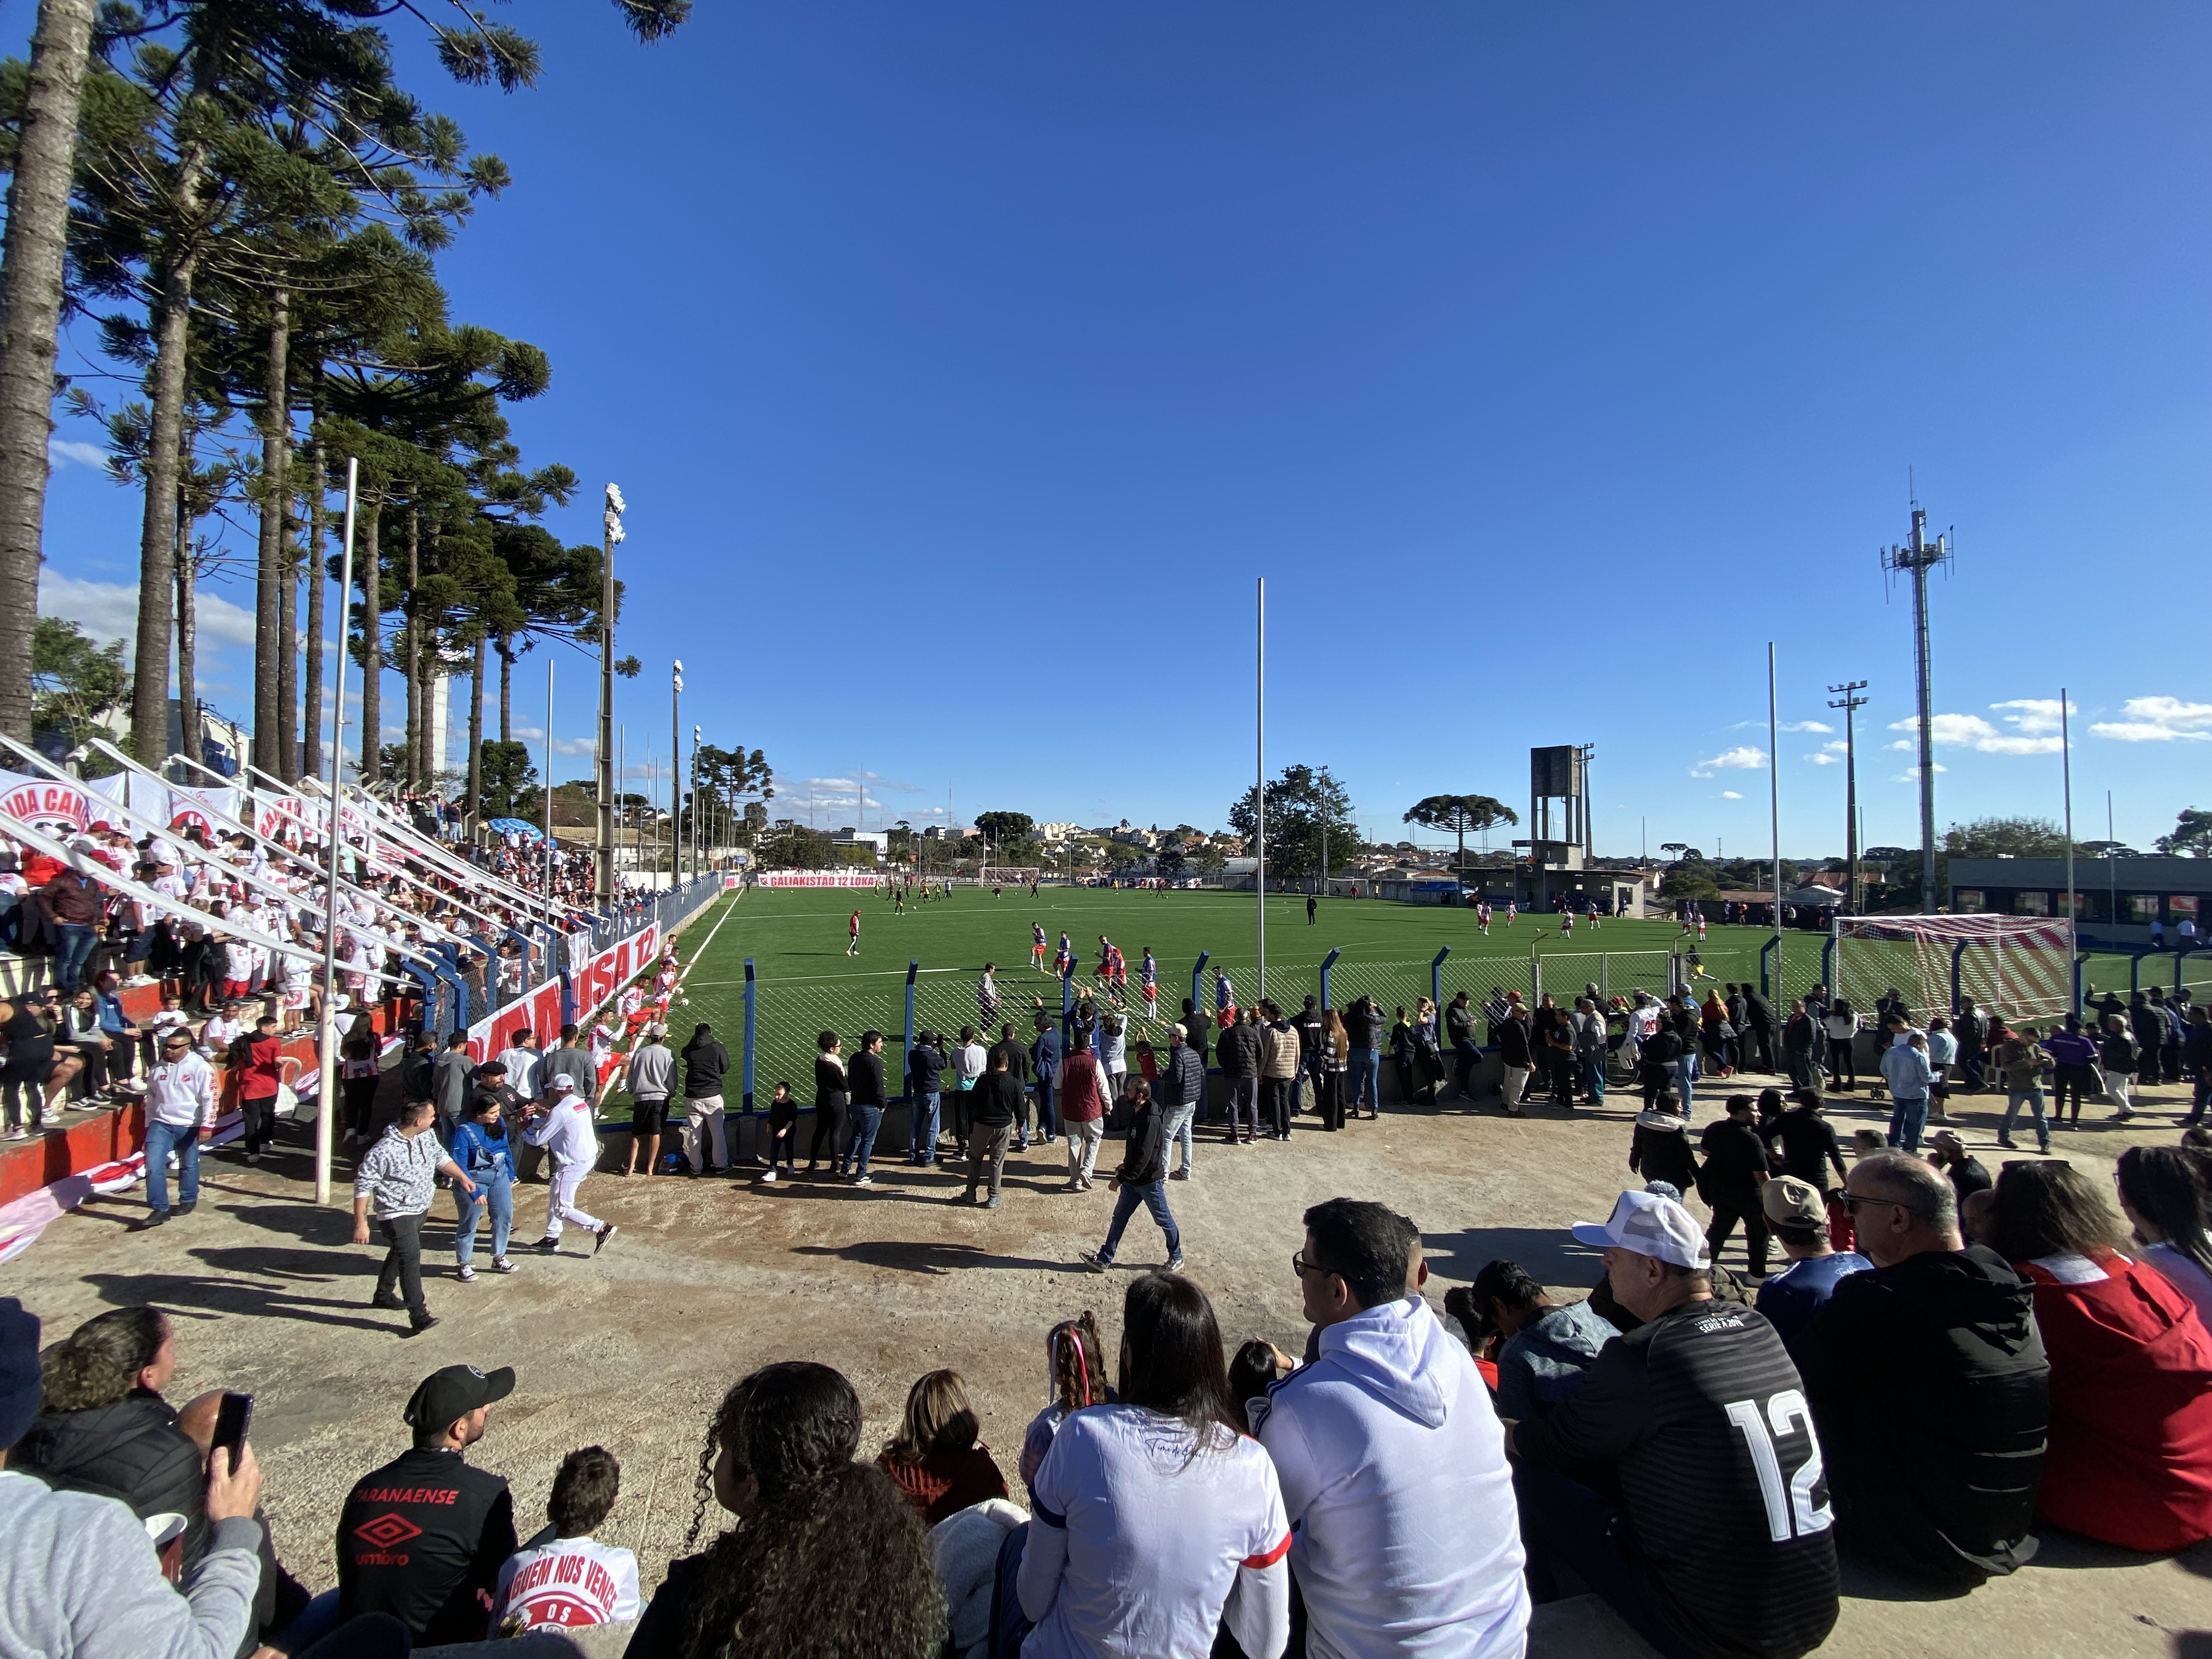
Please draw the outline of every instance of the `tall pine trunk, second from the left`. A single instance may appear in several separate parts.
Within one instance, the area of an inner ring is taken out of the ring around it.
[[[177,161],[177,230],[168,246],[175,259],[161,272],[155,307],[153,420],[146,434],[146,518],[139,526],[139,626],[137,661],[131,670],[131,748],[139,765],[161,765],[168,754],[168,630],[170,584],[177,562],[177,462],[184,442],[184,354],[192,323],[192,279],[199,272],[199,237],[190,219],[199,210],[206,150],[192,148]]]

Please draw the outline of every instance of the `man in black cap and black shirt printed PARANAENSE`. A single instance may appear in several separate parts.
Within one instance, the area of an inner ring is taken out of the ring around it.
[[[338,1610],[389,1613],[418,1648],[480,1641],[500,1568],[515,1553],[507,1482],[462,1451],[484,1409],[513,1394],[513,1367],[447,1365],[407,1400],[414,1449],[354,1482],[338,1515]]]

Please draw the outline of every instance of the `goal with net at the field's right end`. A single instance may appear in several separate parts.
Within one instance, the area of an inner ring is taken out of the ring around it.
[[[1843,916],[1838,995],[1860,1013],[1902,991],[1916,1020],[1958,1013],[1958,1000],[2008,1020],[2073,1011],[2073,933],[2033,916]]]

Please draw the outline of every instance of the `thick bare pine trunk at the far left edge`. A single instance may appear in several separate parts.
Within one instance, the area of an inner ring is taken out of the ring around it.
[[[93,11],[93,0],[40,0],[0,243],[0,732],[22,743],[31,741],[31,624],[46,520],[53,349]],[[166,617],[161,635],[166,646]],[[166,692],[168,675],[161,679]]]

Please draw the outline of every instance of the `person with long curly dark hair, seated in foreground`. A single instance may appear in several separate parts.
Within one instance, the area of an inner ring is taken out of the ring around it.
[[[860,1449],[860,1396],[810,1360],[765,1365],[708,1425],[699,1502],[737,1526],[668,1564],[628,1659],[938,1659],[945,1599],[920,1515]]]

